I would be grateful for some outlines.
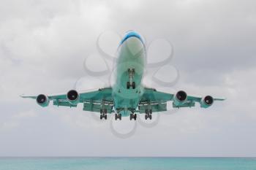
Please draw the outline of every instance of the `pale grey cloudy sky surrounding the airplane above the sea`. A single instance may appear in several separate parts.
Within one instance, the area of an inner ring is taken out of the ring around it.
[[[0,156],[256,157],[255,7],[251,0],[1,0]],[[115,56],[129,30],[145,39],[148,63],[172,52],[167,65],[148,66],[148,86],[227,100],[135,123],[20,98],[108,84],[109,72],[85,68],[111,70],[105,53]],[[162,87],[152,75],[178,79]]]

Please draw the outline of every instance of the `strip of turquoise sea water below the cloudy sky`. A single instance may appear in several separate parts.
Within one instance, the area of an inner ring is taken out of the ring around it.
[[[0,158],[0,170],[256,170],[256,158]]]

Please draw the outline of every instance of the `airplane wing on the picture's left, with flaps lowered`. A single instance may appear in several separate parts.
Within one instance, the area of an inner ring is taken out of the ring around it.
[[[38,96],[21,95],[21,97],[33,98],[42,107],[47,107],[50,101],[53,101],[53,105],[58,107],[77,107],[79,103],[83,103],[83,110],[85,111],[101,112],[101,109],[106,109],[108,113],[113,112],[112,88],[77,92],[79,97],[75,97],[75,92],[75,90],[70,90],[70,95],[69,93],[62,93],[49,96],[42,94]]]

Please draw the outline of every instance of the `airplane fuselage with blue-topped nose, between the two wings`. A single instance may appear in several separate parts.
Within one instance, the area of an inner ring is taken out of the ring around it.
[[[137,109],[143,85],[141,83],[146,64],[146,50],[138,34],[130,33],[118,47],[116,62],[116,80],[113,85],[114,107],[121,115],[128,116],[127,111]]]

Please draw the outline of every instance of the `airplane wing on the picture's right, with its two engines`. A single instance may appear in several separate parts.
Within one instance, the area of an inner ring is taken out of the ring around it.
[[[195,103],[199,103],[200,107],[210,107],[214,101],[224,101],[225,98],[213,98],[211,96],[198,97],[187,96],[184,91],[177,93],[165,93],[157,91],[154,88],[145,88],[142,98],[140,99],[139,112],[144,113],[146,109],[152,112],[167,111],[167,101],[173,101],[174,108],[195,107]]]

